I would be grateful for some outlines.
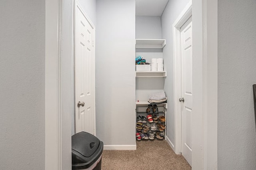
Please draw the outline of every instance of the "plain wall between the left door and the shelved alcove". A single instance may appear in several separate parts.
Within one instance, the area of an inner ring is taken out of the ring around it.
[[[105,145],[135,145],[135,0],[98,0],[96,134]]]

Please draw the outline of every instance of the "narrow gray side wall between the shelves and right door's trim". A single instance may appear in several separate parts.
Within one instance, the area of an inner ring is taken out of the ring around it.
[[[166,39],[166,46],[163,49],[164,70],[167,71],[167,77],[164,84],[164,90],[168,97],[168,110],[166,119],[166,136],[175,147],[175,122],[174,122],[174,101],[173,101],[173,55],[172,55],[172,24],[182,12],[189,0],[169,0],[162,14],[162,38]]]

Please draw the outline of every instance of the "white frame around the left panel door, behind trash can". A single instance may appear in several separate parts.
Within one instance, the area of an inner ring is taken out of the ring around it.
[[[84,17],[86,18],[86,20],[88,20],[88,22],[89,22],[89,24],[92,26],[92,28],[95,30],[95,26],[94,26],[94,24],[92,23],[92,20],[90,20],[90,18],[89,18],[89,16],[86,14],[86,12],[85,12],[85,10],[84,10],[84,8],[81,6],[81,4],[78,2],[78,0],[74,0],[74,15],[73,15],[73,26],[74,26],[74,110],[75,110],[75,115],[74,116],[76,116],[76,107],[77,107],[77,105],[76,105],[76,82],[75,82],[75,80],[76,80],[76,36],[75,36],[75,30],[76,30],[76,7],[78,7],[80,10],[81,10],[81,12],[82,12],[82,14],[84,15]],[[93,42],[93,44],[95,44],[95,34],[94,34],[94,37],[93,37],[93,39],[94,39],[94,42]],[[95,45],[94,45],[95,46]],[[95,49],[95,47],[94,47],[94,49]],[[95,50],[94,50],[94,58],[95,58]],[[93,134],[94,134],[94,136],[96,136],[96,108],[95,108],[95,61],[93,61],[93,67],[94,67],[94,71],[92,72],[92,74],[94,74],[94,76],[92,76],[93,78],[92,78],[92,82],[93,82],[93,85],[92,85],[92,95],[93,95],[93,100],[94,100],[94,102],[93,102],[93,107],[94,107],[94,127],[93,127],[93,129],[94,129],[94,132],[93,132]],[[76,117],[74,118],[74,120],[75,120],[75,133],[76,133]]]

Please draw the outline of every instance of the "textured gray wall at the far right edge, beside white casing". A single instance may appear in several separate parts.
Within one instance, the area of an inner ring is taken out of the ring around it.
[[[256,170],[255,0],[218,1],[218,169]]]

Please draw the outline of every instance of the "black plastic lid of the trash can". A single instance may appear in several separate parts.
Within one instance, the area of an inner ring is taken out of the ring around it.
[[[72,136],[72,150],[79,152],[85,157],[92,156],[99,145],[100,140],[92,134],[79,132]]]

